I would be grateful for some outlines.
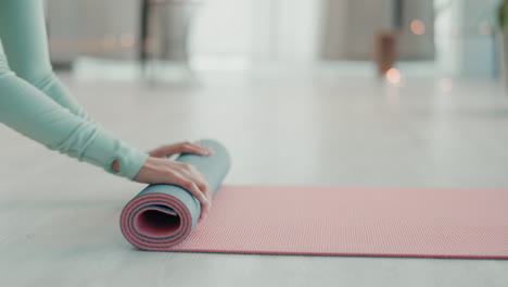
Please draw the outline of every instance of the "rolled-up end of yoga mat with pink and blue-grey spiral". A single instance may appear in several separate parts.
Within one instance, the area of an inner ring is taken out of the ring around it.
[[[215,195],[229,171],[230,157],[220,144],[201,140],[214,154],[181,154],[176,161],[192,164],[206,176]],[[125,238],[144,250],[164,250],[185,240],[194,229],[201,203],[189,191],[175,185],[150,185],[122,211]]]

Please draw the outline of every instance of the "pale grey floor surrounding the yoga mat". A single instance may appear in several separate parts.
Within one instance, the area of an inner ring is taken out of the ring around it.
[[[142,149],[220,139],[233,159],[227,184],[508,187],[508,96],[496,82],[420,76],[395,87],[347,75],[326,66],[180,84],[64,79]],[[508,261],[138,251],[118,216],[142,185],[4,126],[0,142],[0,286],[508,286]]]

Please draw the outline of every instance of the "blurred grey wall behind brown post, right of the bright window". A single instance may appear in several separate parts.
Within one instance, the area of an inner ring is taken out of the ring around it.
[[[393,0],[323,0],[321,53],[328,60],[371,60],[374,35],[390,28]],[[398,54],[405,60],[434,57],[432,0],[405,0]],[[420,20],[423,35],[415,35],[410,23]]]

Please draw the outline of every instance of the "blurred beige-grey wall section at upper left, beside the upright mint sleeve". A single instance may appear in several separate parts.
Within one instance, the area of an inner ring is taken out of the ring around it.
[[[78,55],[132,58],[138,34],[138,0],[46,0],[52,61]]]

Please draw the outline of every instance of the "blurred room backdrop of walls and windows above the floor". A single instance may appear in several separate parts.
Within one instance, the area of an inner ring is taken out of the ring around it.
[[[139,63],[164,80],[175,68],[342,62],[344,73],[391,80],[401,70],[409,76],[503,78],[501,0],[46,2],[54,65],[91,77],[136,78]],[[122,70],[114,75],[104,71],[115,65]]]

